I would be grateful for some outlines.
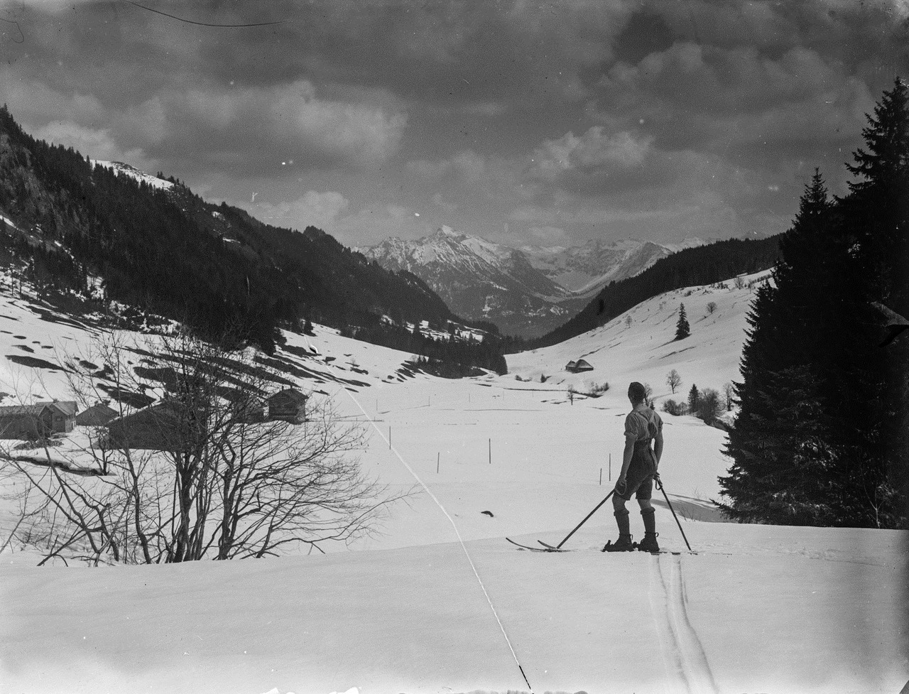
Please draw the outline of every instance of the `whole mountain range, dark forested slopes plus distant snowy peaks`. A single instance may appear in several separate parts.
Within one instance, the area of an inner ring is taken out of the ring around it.
[[[513,247],[443,227],[360,252],[315,226],[271,226],[206,202],[173,176],[36,140],[0,108],[0,267],[18,267],[51,302],[81,301],[87,312],[117,303],[139,324],[176,320],[201,337],[266,352],[279,328],[305,329],[311,320],[436,361],[498,370],[503,354],[529,344],[521,337],[553,344],[630,301],[772,267],[778,251],[774,239],[683,246],[694,247]],[[408,329],[461,335],[456,323],[484,339],[455,345],[459,338]]]

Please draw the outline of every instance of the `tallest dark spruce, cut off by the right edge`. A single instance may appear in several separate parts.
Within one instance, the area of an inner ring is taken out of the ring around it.
[[[844,349],[851,360],[843,379],[854,397],[868,407],[854,407],[848,416],[854,430],[844,447],[856,451],[855,463],[844,469],[869,525],[905,526],[909,517],[909,340],[905,337],[878,348],[881,316],[874,303],[909,315],[909,93],[903,81],[884,92],[863,130],[865,148],[854,153],[850,183],[843,201],[844,237],[851,263],[845,267],[838,297],[850,310],[847,327],[854,340]],[[851,300],[851,305],[848,303]],[[861,461],[859,463],[859,461]],[[902,489],[903,493],[900,493]]]

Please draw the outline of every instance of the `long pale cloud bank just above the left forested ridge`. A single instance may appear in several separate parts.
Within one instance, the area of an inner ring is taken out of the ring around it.
[[[107,143],[144,153],[129,161],[134,166],[151,159],[183,159],[193,152],[194,161],[184,168],[214,163],[235,174],[261,174],[287,159],[304,166],[368,168],[395,154],[407,126],[405,112],[385,93],[323,98],[307,80],[268,88],[171,87],[120,108],[103,106],[95,96],[24,85],[8,70],[0,72],[0,88],[16,105],[17,120],[37,124],[30,132],[43,126],[59,137],[68,130],[71,139],[56,141],[83,151],[83,146],[99,146],[88,134],[102,132],[95,124],[104,123]],[[47,114],[66,114],[66,120],[47,125]],[[107,156],[92,149],[85,153]]]

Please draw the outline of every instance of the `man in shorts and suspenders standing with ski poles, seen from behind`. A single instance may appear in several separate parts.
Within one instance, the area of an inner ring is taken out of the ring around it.
[[[654,475],[663,455],[663,420],[646,404],[647,391],[643,384],[634,381],[628,387],[632,411],[625,417],[625,447],[622,472],[615,482],[613,509],[619,527],[619,538],[606,542],[604,552],[628,552],[635,547],[644,552],[658,552],[654,505],[650,498],[654,491]],[[654,441],[654,448],[650,442]],[[631,495],[637,498],[644,520],[644,540],[634,545],[628,523],[625,502]]]

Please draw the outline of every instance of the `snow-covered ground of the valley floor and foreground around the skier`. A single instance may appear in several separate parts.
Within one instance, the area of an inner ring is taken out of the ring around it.
[[[0,555],[0,691],[896,694],[909,679],[906,534],[715,522],[724,433],[693,417],[663,416],[661,474],[697,554],[684,552],[659,494],[660,542],[680,555],[601,553],[615,538],[609,504],[565,544],[572,551],[504,539],[558,543],[605,497],[630,380],[659,402],[672,397],[672,368],[677,399],[736,378],[751,297],[657,297],[630,325],[619,317],[509,357],[506,377],[402,380],[402,353],[327,329],[308,344],[289,336],[320,352],[307,364],[324,377],[301,385],[372,429],[365,469],[419,496],[394,509],[384,535],[325,555],[37,568],[34,549],[11,543]],[[4,301],[7,355],[84,338]],[[692,337],[673,342],[679,301]],[[581,357],[594,371],[564,371]],[[8,368],[35,395],[65,396],[54,372],[38,385]],[[568,397],[569,385],[604,381],[602,397]],[[12,508],[0,505],[4,539]],[[643,534],[634,510],[632,532]]]

